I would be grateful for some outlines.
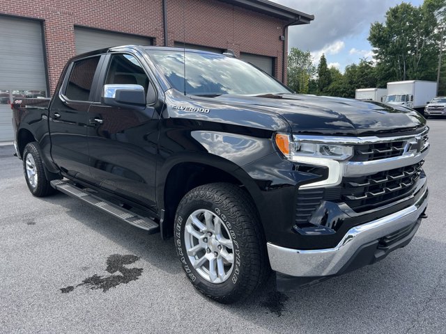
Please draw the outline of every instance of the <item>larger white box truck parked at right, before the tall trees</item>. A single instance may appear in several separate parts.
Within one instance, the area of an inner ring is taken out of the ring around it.
[[[423,112],[424,106],[437,94],[435,81],[406,80],[387,82],[385,102],[399,104]]]

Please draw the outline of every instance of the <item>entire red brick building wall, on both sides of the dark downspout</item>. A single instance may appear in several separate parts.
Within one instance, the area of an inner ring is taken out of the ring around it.
[[[169,45],[185,42],[276,57],[282,79],[284,22],[216,0],[167,0]],[[69,58],[75,56],[74,26],[132,33],[164,45],[161,0],[0,0],[0,14],[44,20],[50,93]]]

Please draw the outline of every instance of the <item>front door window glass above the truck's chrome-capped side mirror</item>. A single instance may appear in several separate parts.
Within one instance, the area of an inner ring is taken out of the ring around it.
[[[105,84],[141,85],[147,95],[149,81],[137,58],[130,54],[115,54],[112,56]]]

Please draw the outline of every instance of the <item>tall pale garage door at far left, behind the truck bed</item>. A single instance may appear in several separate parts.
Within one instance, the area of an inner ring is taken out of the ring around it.
[[[0,142],[13,141],[14,97],[46,96],[42,26],[29,19],[0,16]]]

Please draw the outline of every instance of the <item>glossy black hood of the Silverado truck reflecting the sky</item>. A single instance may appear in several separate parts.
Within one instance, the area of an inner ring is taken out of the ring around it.
[[[339,97],[297,94],[220,95],[212,100],[277,113],[289,123],[293,133],[301,134],[409,132],[426,124],[426,120],[412,109]]]

